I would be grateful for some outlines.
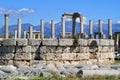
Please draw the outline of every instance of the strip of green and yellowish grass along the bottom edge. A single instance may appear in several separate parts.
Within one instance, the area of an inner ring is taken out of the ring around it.
[[[19,77],[16,78],[11,78],[7,80],[21,80]],[[120,76],[66,76],[66,77],[38,77],[38,76],[33,76],[29,77],[28,80],[120,80]]]

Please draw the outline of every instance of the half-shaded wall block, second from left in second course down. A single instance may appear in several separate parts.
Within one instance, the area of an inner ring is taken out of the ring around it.
[[[31,52],[31,46],[16,46],[16,53],[30,53]]]

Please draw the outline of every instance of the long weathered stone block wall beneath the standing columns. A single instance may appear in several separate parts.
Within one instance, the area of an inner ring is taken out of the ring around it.
[[[0,45],[0,64],[3,65],[114,62],[114,40],[111,39],[5,39]]]

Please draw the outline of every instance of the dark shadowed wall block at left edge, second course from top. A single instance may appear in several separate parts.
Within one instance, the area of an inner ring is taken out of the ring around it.
[[[15,46],[0,46],[0,53],[14,53]]]

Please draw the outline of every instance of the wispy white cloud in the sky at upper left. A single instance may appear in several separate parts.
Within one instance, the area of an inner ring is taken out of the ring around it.
[[[28,15],[31,13],[34,13],[35,10],[34,9],[29,9],[29,8],[21,8],[18,10],[15,9],[5,9],[5,8],[0,8],[0,14],[11,14],[11,16],[24,16],[24,15]]]

